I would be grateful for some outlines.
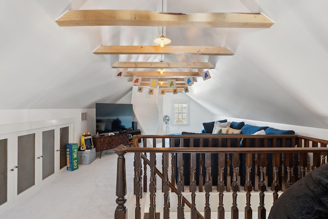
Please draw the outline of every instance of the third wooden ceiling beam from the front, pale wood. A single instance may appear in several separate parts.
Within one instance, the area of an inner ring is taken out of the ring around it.
[[[134,62],[118,61],[113,64],[116,69],[213,69],[209,62]]]

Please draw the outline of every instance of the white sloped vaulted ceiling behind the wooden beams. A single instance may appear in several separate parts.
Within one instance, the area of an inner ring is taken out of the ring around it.
[[[170,46],[227,46],[235,55],[163,60],[215,66],[212,78],[199,79],[188,93],[214,115],[328,128],[328,1],[168,0],[163,6],[158,0],[0,1],[0,109],[116,102],[132,89],[127,78],[115,77],[116,61],[160,61],[160,55],[92,51],[100,45],[155,46],[161,27],[59,27],[55,20],[67,10],[260,12],[274,21],[271,28],[165,28]]]

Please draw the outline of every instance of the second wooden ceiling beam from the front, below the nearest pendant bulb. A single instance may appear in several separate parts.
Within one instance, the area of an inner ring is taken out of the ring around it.
[[[183,55],[233,55],[227,47],[193,46],[100,46],[94,54],[183,54]]]

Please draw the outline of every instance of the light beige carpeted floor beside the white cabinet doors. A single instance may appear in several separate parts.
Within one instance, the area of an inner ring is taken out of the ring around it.
[[[127,194],[133,189],[133,156],[126,154]],[[114,218],[116,166],[117,155],[103,153],[89,165],[60,174],[0,212],[0,218]]]

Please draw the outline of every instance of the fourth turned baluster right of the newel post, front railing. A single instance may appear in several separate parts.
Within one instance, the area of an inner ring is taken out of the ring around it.
[[[183,212],[183,204],[182,204],[182,191],[183,191],[183,182],[182,182],[182,172],[183,172],[183,162],[182,162],[182,154],[177,154],[177,168],[178,168],[178,176],[177,176],[177,190],[178,190],[178,206],[177,206],[177,216],[178,218],[184,218],[185,213]]]

